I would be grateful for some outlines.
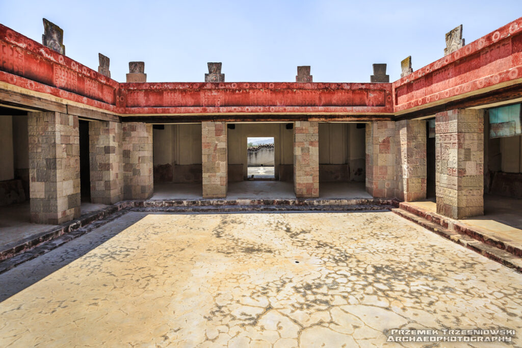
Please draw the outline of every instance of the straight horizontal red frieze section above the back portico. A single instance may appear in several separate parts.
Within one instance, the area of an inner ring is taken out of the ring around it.
[[[391,113],[385,83],[122,83],[128,113]]]

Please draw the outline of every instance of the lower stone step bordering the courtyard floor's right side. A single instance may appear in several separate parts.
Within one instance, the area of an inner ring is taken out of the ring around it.
[[[443,236],[450,241],[460,244],[468,249],[476,251],[477,253],[499,263],[502,265],[512,268],[513,270],[522,273],[522,258],[516,255],[508,253],[506,250],[502,250],[493,245],[489,245],[474,239],[473,237],[449,230],[438,223],[429,221],[416,214],[413,214],[402,208],[392,209],[394,213],[402,218],[410,220],[418,225],[424,227],[426,230],[435,232],[438,235]]]

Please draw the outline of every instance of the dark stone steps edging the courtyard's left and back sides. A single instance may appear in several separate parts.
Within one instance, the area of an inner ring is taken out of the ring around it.
[[[256,211],[375,211],[398,206],[395,199],[195,199],[127,200],[82,215],[46,232],[0,248],[0,274],[113,221],[129,211],[256,212]]]

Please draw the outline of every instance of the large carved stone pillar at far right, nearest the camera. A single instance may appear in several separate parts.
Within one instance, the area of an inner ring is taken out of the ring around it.
[[[484,212],[484,112],[435,116],[437,213],[462,219]]]

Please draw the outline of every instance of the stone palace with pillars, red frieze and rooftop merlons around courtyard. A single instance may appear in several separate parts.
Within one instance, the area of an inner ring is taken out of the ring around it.
[[[391,83],[386,64],[369,83],[313,82],[310,66],[295,82],[225,82],[221,63],[205,81],[147,82],[144,62],[118,82],[108,57],[92,70],[44,27],[42,45],[0,25],[0,205],[29,200],[34,222],[146,200],[157,183],[226,198],[247,179],[247,137],[274,138],[274,179],[299,199],[365,182],[460,219],[483,213],[484,194],[522,190],[522,18],[468,45],[459,26],[444,57],[413,71],[409,56]]]

